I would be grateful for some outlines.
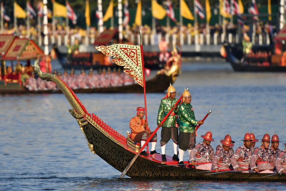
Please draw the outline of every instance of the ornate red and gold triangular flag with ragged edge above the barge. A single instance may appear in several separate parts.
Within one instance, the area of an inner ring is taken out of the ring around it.
[[[140,46],[114,44],[95,48],[106,56],[112,56],[111,61],[118,66],[123,66],[126,69],[124,72],[143,87],[143,67]]]

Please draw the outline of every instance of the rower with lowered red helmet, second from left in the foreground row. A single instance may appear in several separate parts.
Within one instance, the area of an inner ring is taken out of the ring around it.
[[[223,140],[220,140],[222,147],[217,147],[215,152],[215,159],[212,162],[212,169],[215,172],[219,170],[229,169],[231,166],[231,157],[233,155],[233,150],[230,147],[233,147],[234,144],[231,142],[231,136],[225,136]]]

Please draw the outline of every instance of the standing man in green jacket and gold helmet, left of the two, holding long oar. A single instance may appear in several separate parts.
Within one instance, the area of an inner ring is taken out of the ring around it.
[[[165,154],[165,147],[170,139],[173,140],[174,146],[174,156],[173,160],[179,161],[178,158],[178,128],[176,127],[176,115],[177,115],[177,106],[175,103],[178,101],[176,97],[176,90],[171,85],[168,87],[167,95],[161,99],[161,104],[158,110],[157,124],[158,127],[162,127],[161,130],[161,150],[162,150],[162,161],[167,161]],[[166,121],[162,124],[162,119],[167,115],[167,113],[174,108],[173,112],[169,115]]]

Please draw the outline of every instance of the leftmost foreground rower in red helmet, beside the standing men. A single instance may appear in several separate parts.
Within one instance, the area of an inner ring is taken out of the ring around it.
[[[195,162],[204,163],[204,162],[210,162],[214,160],[215,153],[210,143],[211,141],[215,141],[215,140],[212,139],[211,131],[206,132],[205,135],[200,135],[200,137],[203,138],[203,142],[197,144],[190,153],[190,163],[192,163],[192,166],[195,166]],[[200,170],[211,170],[212,163],[199,164],[199,165],[196,165],[195,167],[196,169],[200,169]]]

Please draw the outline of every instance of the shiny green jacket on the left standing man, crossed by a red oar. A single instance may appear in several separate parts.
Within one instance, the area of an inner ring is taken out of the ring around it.
[[[178,101],[177,98],[174,98],[172,100],[170,98],[161,99],[161,104],[157,116],[157,124],[162,121],[162,119],[167,115],[167,113],[172,109],[173,105],[175,105],[177,101]],[[177,110],[173,110],[173,112],[177,114]],[[171,115],[172,113],[162,124],[162,127],[176,127],[176,115],[173,116]]]

